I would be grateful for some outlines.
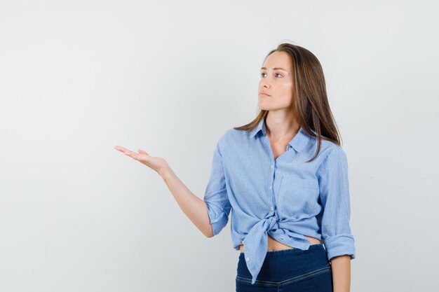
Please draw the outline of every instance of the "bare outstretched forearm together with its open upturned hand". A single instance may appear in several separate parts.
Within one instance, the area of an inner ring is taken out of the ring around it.
[[[114,148],[156,171],[162,177],[163,181],[165,181],[166,186],[168,186],[184,214],[203,232],[203,235],[206,237],[213,236],[207,204],[184,185],[173,172],[173,169],[170,168],[166,160],[153,157],[142,150],[138,150],[138,153],[136,153],[121,146],[115,146]]]

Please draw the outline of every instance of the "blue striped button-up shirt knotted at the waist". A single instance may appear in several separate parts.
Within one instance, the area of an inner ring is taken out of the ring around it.
[[[229,221],[231,240],[244,244],[248,270],[255,284],[268,248],[267,233],[291,247],[307,250],[304,235],[320,239],[327,258],[355,258],[349,225],[350,200],[346,154],[301,127],[285,152],[274,159],[264,118],[252,130],[233,128],[222,134],[213,153],[204,201],[213,235]]]

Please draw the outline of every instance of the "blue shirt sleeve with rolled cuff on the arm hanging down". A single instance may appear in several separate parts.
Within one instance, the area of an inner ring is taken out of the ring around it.
[[[327,155],[317,172],[320,201],[323,206],[321,231],[327,258],[350,255],[355,258],[355,244],[349,219],[351,202],[349,198],[348,162],[341,146]]]

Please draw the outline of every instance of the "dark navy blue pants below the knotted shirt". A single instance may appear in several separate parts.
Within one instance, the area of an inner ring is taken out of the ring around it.
[[[332,270],[323,244],[311,244],[307,251],[267,251],[255,284],[244,253],[239,255],[236,272],[236,292],[332,292]]]

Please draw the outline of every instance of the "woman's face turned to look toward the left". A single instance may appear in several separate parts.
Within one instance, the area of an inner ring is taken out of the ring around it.
[[[292,72],[288,53],[276,51],[266,57],[258,87],[259,109],[271,111],[290,107],[292,102]],[[262,95],[262,93],[267,95]]]

